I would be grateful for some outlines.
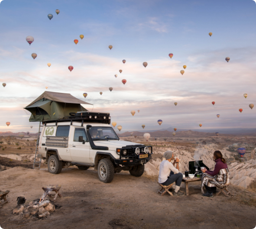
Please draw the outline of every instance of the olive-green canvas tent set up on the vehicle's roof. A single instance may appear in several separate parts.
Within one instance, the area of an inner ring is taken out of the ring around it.
[[[69,113],[87,111],[81,104],[92,105],[68,93],[44,92],[24,109],[31,112],[30,122],[57,121]]]

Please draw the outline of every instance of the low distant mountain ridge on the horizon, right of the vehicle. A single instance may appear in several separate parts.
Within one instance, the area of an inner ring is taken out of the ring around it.
[[[151,137],[173,137],[172,133],[168,130],[157,130],[153,132],[147,132],[150,134]],[[133,133],[133,136],[143,136],[145,132],[133,131],[133,132],[125,132],[123,134],[118,134],[120,137],[129,137]],[[176,131],[175,137],[216,137],[215,133],[206,133],[206,132],[198,132],[193,130],[184,130],[184,131]],[[227,136],[236,136],[233,134],[219,134],[219,136],[227,137]],[[175,138],[174,137],[174,138]]]

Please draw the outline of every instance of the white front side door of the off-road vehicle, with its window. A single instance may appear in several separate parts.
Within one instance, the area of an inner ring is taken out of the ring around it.
[[[72,162],[90,163],[90,143],[88,142],[85,129],[75,128],[74,139],[71,143]],[[83,142],[79,142],[79,136],[83,137]]]

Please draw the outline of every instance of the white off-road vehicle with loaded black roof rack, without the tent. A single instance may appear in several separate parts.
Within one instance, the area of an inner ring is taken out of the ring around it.
[[[98,171],[100,181],[109,183],[122,170],[143,175],[152,146],[120,140],[110,126],[110,114],[74,112],[58,121],[45,121],[39,138],[38,158],[45,159],[49,172],[77,165]]]

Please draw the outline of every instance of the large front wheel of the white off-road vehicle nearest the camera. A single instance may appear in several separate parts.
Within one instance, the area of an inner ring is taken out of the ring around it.
[[[110,159],[104,158],[101,159],[98,164],[98,176],[100,181],[104,183],[110,183],[114,178],[114,165]]]

